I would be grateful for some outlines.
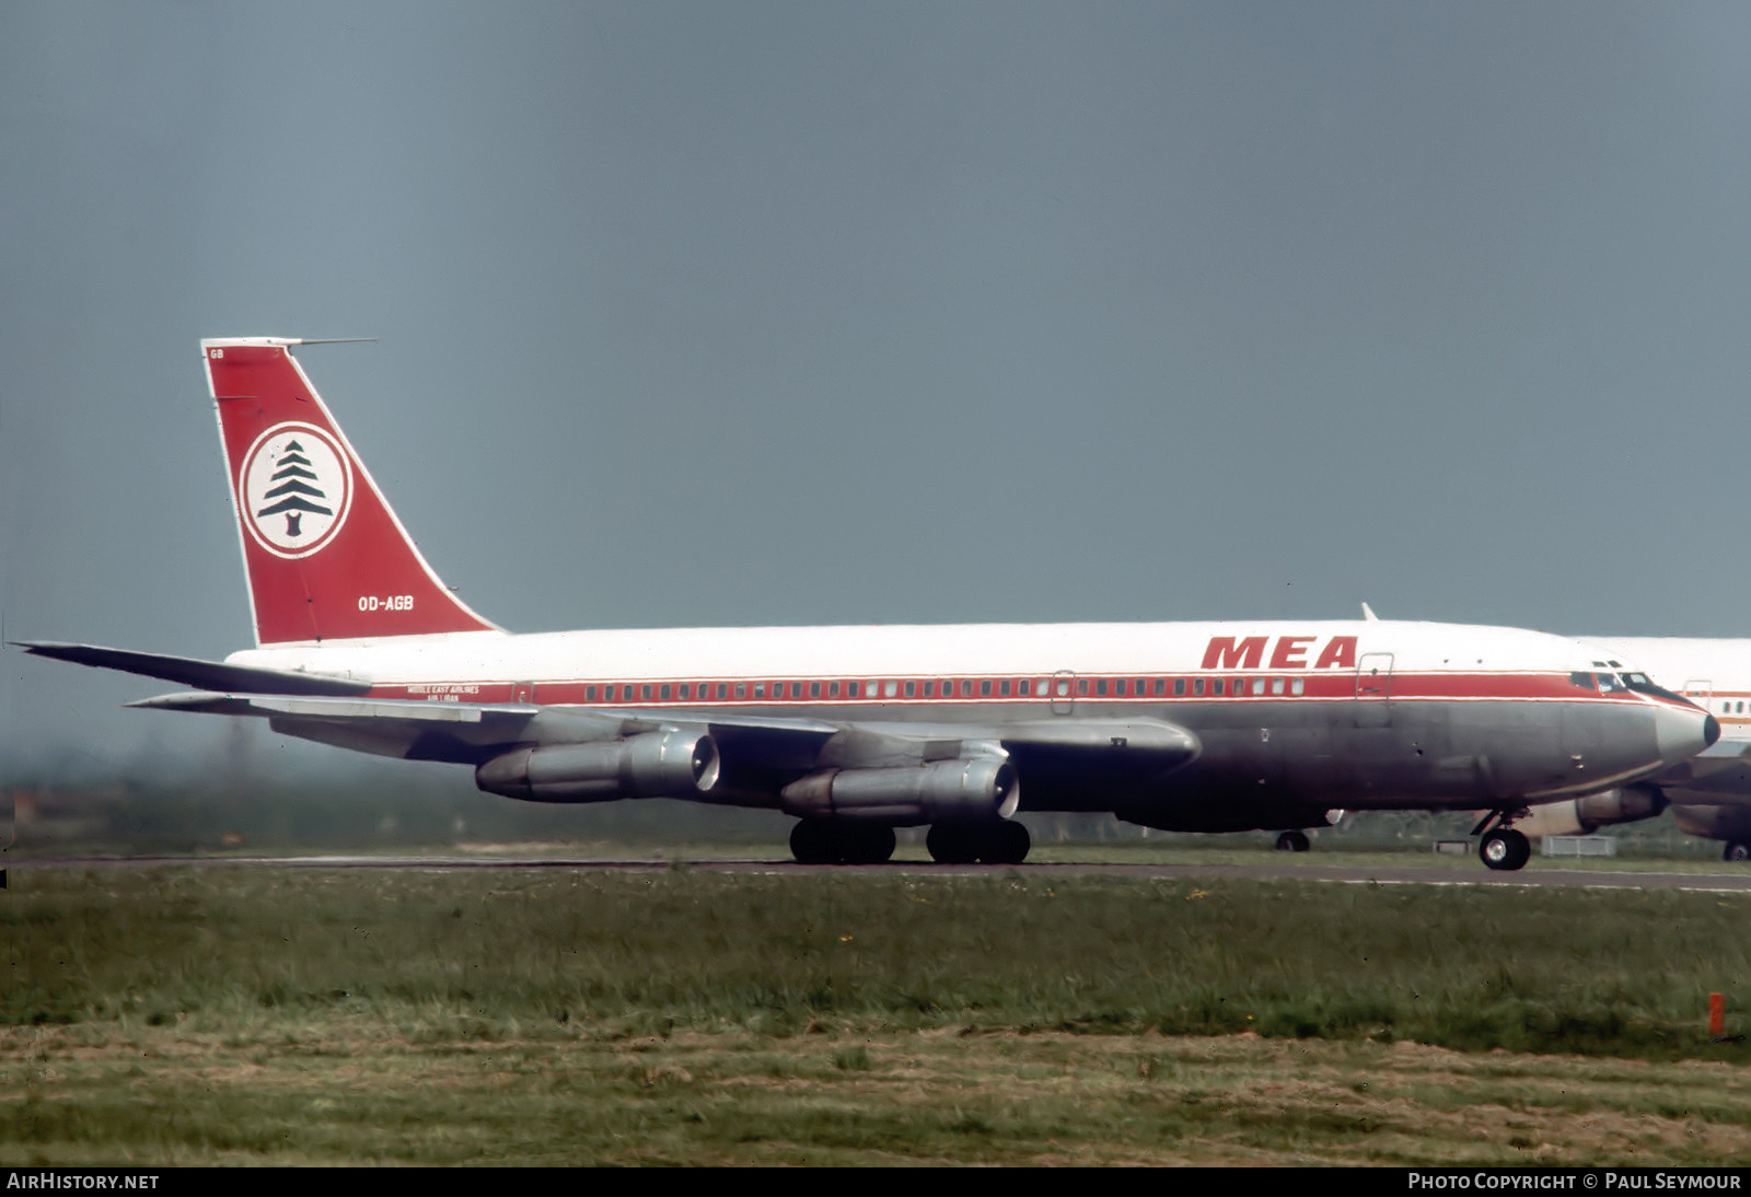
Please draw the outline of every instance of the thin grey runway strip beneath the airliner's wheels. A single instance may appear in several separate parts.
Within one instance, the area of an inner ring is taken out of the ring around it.
[[[1751,872],[1658,873],[1551,870],[1536,864],[1516,873],[1492,873],[1481,864],[1467,868],[1418,868],[1415,864],[933,864],[893,861],[888,864],[797,864],[790,859],[602,859],[564,856],[151,856],[151,858],[54,858],[12,859],[7,870],[25,875],[39,868],[347,868],[347,870],[574,870],[574,872],[664,872],[688,868],[706,873],[905,873],[919,877],[1236,877],[1250,880],[1315,880],[1345,886],[1518,886],[1571,889],[1684,889],[1697,892],[1751,894]],[[5,870],[0,870],[4,875]]]

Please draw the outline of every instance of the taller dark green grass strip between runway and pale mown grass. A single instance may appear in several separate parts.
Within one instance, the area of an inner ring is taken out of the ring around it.
[[[1255,880],[26,870],[0,1024],[851,1022],[1413,1038],[1669,1059],[1751,900]]]

